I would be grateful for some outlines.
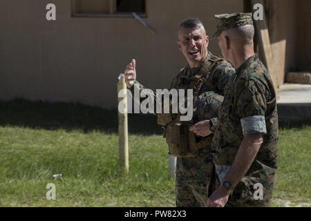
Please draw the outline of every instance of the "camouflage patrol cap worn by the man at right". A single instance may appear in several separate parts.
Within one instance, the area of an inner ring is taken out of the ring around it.
[[[253,25],[252,13],[232,13],[215,15],[217,30],[213,37],[217,37],[223,30],[238,28],[240,26]]]

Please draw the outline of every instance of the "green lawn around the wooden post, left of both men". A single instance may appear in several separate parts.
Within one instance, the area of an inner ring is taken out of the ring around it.
[[[173,206],[166,146],[131,135],[130,172],[117,165],[116,134],[0,128],[0,206]],[[62,173],[55,180],[52,175]],[[46,200],[46,184],[57,200]]]

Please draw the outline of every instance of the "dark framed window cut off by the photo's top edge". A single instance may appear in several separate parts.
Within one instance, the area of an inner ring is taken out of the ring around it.
[[[146,0],[73,0],[73,15],[131,15],[146,13]]]

